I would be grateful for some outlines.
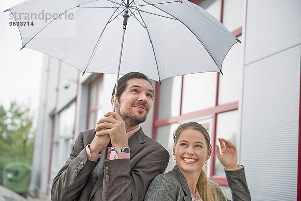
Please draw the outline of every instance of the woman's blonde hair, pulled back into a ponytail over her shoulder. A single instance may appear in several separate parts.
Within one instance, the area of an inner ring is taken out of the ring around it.
[[[210,148],[212,150],[212,146],[210,144],[210,137],[207,130],[197,122],[184,123],[175,130],[173,136],[175,145],[177,144],[181,132],[186,129],[193,129],[193,130],[200,131],[205,137],[207,148],[208,148],[207,151],[209,151]],[[227,200],[222,189],[218,186],[217,183],[207,178],[206,173],[203,169],[200,173],[196,189],[198,190],[202,200],[218,201],[217,193],[222,195],[222,198],[225,198],[225,200]]]

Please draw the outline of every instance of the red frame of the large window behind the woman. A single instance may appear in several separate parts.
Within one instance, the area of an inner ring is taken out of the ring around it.
[[[191,2],[195,4],[199,4],[203,0],[191,0]],[[220,17],[220,22],[223,22],[223,7],[224,7],[224,0],[221,0],[221,17]],[[240,36],[242,34],[242,27],[232,31],[232,34],[236,37]],[[212,137],[214,140],[212,140],[213,144],[213,152],[215,151],[215,139],[216,139],[216,125],[217,125],[217,115],[219,113],[223,112],[229,112],[233,110],[238,110],[238,101],[233,101],[230,103],[218,105],[218,93],[219,93],[219,73],[217,73],[217,85],[216,85],[216,100],[215,100],[215,106],[211,108],[206,108],[203,110],[199,110],[196,112],[188,113],[188,114],[182,114],[182,95],[183,95],[183,78],[184,76],[182,75],[182,84],[181,84],[181,100],[180,100],[180,115],[176,117],[170,117],[166,119],[160,119],[157,120],[158,116],[158,99],[159,99],[159,90],[160,90],[160,85],[157,82],[156,83],[156,92],[155,92],[155,110],[154,110],[154,125],[153,125],[153,139],[156,140],[156,130],[160,126],[165,126],[165,125],[170,125],[172,123],[177,123],[177,122],[182,122],[182,121],[188,121],[190,119],[196,119],[200,117],[205,117],[205,116],[212,116],[213,120],[213,126],[212,126]],[[228,182],[226,177],[224,176],[216,176],[214,175],[214,159],[215,157],[212,158],[212,165],[211,165],[211,171],[210,171],[210,178],[212,178],[215,182],[217,182],[219,185],[222,186],[228,186]]]

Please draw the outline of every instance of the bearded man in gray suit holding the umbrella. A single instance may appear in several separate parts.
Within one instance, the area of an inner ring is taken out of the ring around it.
[[[112,103],[114,93],[115,87]],[[105,114],[95,130],[79,134],[53,180],[52,201],[143,200],[150,181],[169,161],[168,151],[139,126],[153,97],[144,74],[133,72],[119,79],[115,112]],[[108,151],[110,141],[114,148]]]

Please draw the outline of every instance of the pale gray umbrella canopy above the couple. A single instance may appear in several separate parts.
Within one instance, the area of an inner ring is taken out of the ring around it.
[[[118,73],[124,15],[129,18],[120,74],[138,71],[161,81],[218,72],[239,41],[187,0],[27,0],[8,11],[16,22],[29,22],[18,26],[23,47],[81,72]]]

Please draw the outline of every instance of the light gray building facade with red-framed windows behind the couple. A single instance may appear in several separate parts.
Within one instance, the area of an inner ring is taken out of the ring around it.
[[[155,98],[145,133],[172,155],[172,133],[197,121],[211,135],[233,142],[245,166],[252,200],[301,200],[301,2],[194,0],[242,44],[223,62],[223,73],[199,73],[153,83]],[[45,56],[31,189],[50,197],[54,176],[80,131],[112,110],[116,75],[81,73]],[[174,165],[170,158],[167,171]],[[299,165],[299,166],[298,166]],[[205,165],[231,199],[222,165]]]

